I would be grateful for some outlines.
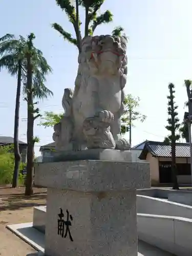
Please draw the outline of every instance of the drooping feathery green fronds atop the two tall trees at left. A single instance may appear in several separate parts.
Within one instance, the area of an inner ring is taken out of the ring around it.
[[[31,37],[35,38],[31,33]],[[6,34],[0,38],[0,71],[6,69],[12,76],[17,75],[18,61],[22,63],[23,91],[27,94],[27,54],[29,53],[27,39],[19,35],[18,39],[14,35]],[[52,72],[42,52],[34,46],[31,49],[31,63],[33,70],[33,96],[39,99],[48,98],[53,93],[46,86],[46,75]]]

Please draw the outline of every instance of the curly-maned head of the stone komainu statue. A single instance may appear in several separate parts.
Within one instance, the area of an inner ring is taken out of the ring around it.
[[[122,75],[126,69],[126,45],[124,36],[88,36],[82,40],[82,56],[91,74],[97,76]]]

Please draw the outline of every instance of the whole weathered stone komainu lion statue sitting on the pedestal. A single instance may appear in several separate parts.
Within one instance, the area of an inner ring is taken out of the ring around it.
[[[123,89],[127,74],[124,36],[89,36],[82,40],[74,93],[65,89],[60,123],[54,126],[56,150],[111,148],[130,150],[121,138]]]

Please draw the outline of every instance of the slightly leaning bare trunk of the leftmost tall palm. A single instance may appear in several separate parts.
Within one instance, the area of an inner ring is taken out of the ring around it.
[[[20,152],[19,152],[19,143],[18,143],[20,90],[21,90],[21,86],[22,86],[21,76],[22,76],[22,65],[21,65],[21,61],[19,60],[18,61],[18,74],[17,74],[17,92],[16,92],[16,101],[15,101],[15,123],[14,123],[15,164],[14,164],[12,187],[18,187],[19,164],[20,164],[20,160],[21,160],[21,156],[20,156]]]

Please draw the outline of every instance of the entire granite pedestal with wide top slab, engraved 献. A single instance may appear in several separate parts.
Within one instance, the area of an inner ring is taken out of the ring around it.
[[[148,163],[39,163],[35,185],[48,188],[46,256],[138,255],[136,188],[150,187]]]

